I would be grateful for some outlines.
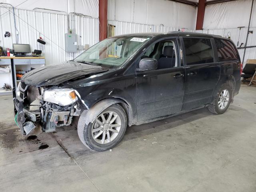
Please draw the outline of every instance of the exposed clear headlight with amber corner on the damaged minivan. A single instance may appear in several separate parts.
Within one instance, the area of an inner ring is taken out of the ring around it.
[[[70,105],[76,102],[76,92],[74,89],[54,89],[44,91],[44,101],[55,103],[58,105]]]

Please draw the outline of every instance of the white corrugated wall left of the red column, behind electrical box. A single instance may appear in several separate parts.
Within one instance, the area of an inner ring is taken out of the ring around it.
[[[10,10],[10,12],[8,12]],[[14,25],[14,14],[12,8],[0,8],[0,31],[8,31],[10,37],[0,35],[0,46],[12,48],[13,43],[30,44],[31,51],[39,49],[40,44],[36,40],[40,36],[46,42],[44,56],[46,64],[56,64],[65,60],[71,60],[78,53],[66,53],[64,34],[68,32],[68,15],[33,10],[14,9],[16,30]],[[78,45],[94,45],[99,41],[99,20],[84,16],[71,16],[70,26],[78,35]],[[17,34],[17,35],[15,35]],[[17,42],[16,42],[17,39]]]

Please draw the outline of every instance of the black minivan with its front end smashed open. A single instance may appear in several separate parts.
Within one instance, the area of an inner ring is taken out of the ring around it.
[[[13,90],[15,120],[27,136],[79,118],[82,143],[104,151],[133,124],[202,107],[224,113],[239,92],[241,68],[236,46],[221,36],[114,36],[74,60],[26,73]]]

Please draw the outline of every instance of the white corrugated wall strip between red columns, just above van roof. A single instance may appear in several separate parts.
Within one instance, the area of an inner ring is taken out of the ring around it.
[[[151,24],[141,24],[141,23],[132,23],[124,22],[117,20],[108,20],[108,24],[114,25],[114,35],[122,35],[129,33],[146,33],[146,32],[169,32],[169,31],[178,31],[179,28],[170,27],[170,26],[158,26]],[[195,30],[186,29],[186,31],[194,32]]]

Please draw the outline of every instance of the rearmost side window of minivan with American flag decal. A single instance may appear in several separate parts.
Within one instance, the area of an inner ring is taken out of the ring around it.
[[[236,48],[230,41],[224,39],[215,39],[215,44],[218,50],[218,61],[238,59]]]

